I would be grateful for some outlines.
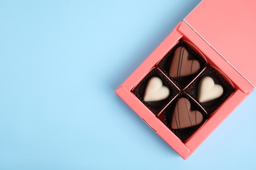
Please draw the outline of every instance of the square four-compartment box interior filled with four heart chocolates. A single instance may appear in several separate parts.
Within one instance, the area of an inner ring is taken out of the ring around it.
[[[133,89],[183,142],[232,92],[228,81],[184,41],[179,41]]]

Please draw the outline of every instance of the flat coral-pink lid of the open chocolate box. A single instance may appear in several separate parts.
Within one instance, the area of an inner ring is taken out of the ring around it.
[[[204,0],[186,18],[202,39],[255,87],[256,1]]]

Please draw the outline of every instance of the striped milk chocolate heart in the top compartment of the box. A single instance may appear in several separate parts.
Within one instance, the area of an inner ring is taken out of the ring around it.
[[[188,59],[188,51],[179,46],[174,53],[173,61],[169,69],[171,77],[193,75],[200,70],[200,63],[196,59]]]

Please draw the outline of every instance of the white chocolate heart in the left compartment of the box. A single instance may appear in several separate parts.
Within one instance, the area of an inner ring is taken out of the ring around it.
[[[150,78],[146,85],[144,101],[160,101],[169,96],[169,88],[163,86],[163,82],[157,76]]]

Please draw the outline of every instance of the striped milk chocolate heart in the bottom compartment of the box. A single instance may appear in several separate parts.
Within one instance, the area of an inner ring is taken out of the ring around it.
[[[171,128],[182,129],[200,124],[203,121],[203,115],[198,110],[190,110],[190,101],[181,97],[175,106]]]

